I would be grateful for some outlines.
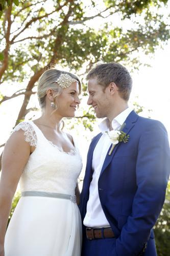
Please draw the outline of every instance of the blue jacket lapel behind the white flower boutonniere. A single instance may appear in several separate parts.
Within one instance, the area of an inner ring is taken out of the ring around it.
[[[125,132],[128,135],[129,132],[131,131],[131,129],[133,128],[133,126],[135,125],[135,122],[137,121],[137,119],[138,119],[138,115],[134,111],[132,111],[129,114],[129,116],[127,117],[127,119],[125,120],[126,125],[124,126],[124,129],[122,131]],[[104,161],[103,166],[102,166],[102,170],[101,170],[100,176],[102,175],[104,170],[107,168],[107,166],[112,161],[112,159],[113,159],[113,157],[114,157],[114,155],[115,155],[115,153],[117,151],[117,148],[119,147],[120,143],[124,143],[124,142],[119,142],[118,144],[116,144],[114,149],[113,149],[112,154],[109,156],[109,151],[111,150],[112,144],[110,145],[109,150],[108,150],[107,155],[106,155],[106,158],[105,158],[105,161]]]

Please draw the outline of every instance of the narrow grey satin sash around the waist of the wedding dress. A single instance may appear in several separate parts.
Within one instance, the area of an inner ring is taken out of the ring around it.
[[[66,195],[60,193],[51,193],[51,192],[44,192],[44,191],[23,191],[21,193],[22,197],[53,197],[53,198],[61,198],[61,199],[68,199],[71,202],[76,203],[76,195]]]

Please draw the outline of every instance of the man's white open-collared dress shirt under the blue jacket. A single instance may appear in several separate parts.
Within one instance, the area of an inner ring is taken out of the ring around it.
[[[124,110],[118,116],[112,120],[112,128],[114,130],[120,129],[125,122],[128,115],[132,112],[131,108]],[[87,212],[84,218],[83,224],[86,227],[109,227],[110,224],[107,221],[104,211],[101,206],[98,192],[98,180],[102,170],[103,163],[106,158],[106,154],[111,145],[110,139],[105,132],[109,131],[109,120],[106,118],[100,123],[99,128],[102,132],[102,136],[96,144],[93,152],[92,169],[94,170],[92,175],[92,181],[90,183],[90,194],[87,202]]]

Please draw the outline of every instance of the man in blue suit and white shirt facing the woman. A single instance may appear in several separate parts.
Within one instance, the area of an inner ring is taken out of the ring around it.
[[[167,132],[159,121],[128,107],[132,79],[122,65],[96,66],[87,80],[87,103],[96,117],[106,119],[87,155],[80,204],[82,256],[156,256],[153,226],[170,168]],[[111,130],[122,130],[117,139],[124,141],[110,140]]]

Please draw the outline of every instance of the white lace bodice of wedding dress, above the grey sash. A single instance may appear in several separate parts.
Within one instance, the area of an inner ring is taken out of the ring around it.
[[[33,121],[19,123],[13,132],[23,130],[25,140],[35,146],[20,177],[22,191],[46,191],[75,194],[82,158],[75,142],[69,153],[47,140]]]

